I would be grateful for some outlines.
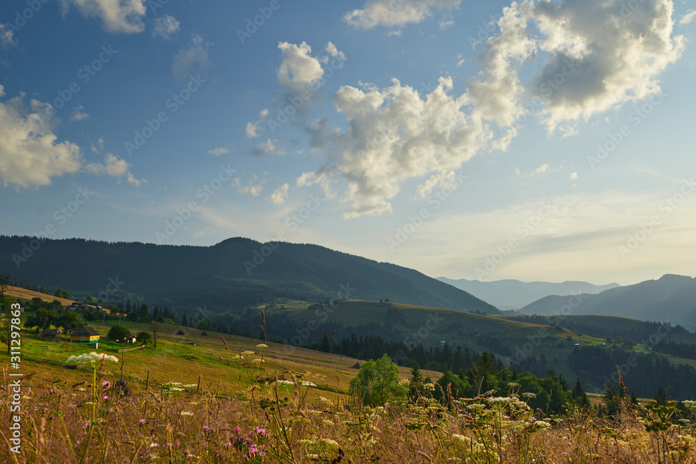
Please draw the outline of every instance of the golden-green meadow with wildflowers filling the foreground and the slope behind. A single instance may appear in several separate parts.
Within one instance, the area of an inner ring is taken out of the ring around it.
[[[104,330],[105,326],[98,326]],[[134,329],[138,327],[134,326]],[[140,328],[145,328],[141,326]],[[166,328],[159,326],[166,334]],[[26,356],[65,361],[86,346],[42,342],[24,333]],[[166,336],[166,335],[165,335]],[[19,453],[7,463],[695,463],[690,423],[649,432],[658,418],[644,408],[614,420],[570,411],[548,417],[509,397],[361,406],[347,394],[356,360],[245,337],[189,330],[157,348],[122,353],[80,369],[22,360]],[[195,345],[193,343],[196,343]],[[227,348],[226,348],[227,344]],[[267,346],[266,346],[267,345]],[[103,347],[103,349],[102,349]],[[6,357],[4,384],[8,385]],[[262,360],[262,361],[261,361]],[[101,367],[100,367],[101,365]],[[148,388],[148,370],[150,385]],[[437,376],[435,372],[424,375]],[[407,377],[400,369],[400,378]],[[3,390],[6,387],[3,386]],[[592,403],[600,403],[592,397]],[[3,392],[0,414],[10,414]],[[17,412],[15,412],[17,414]]]

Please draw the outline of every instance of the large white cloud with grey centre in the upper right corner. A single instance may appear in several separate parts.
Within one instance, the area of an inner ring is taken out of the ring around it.
[[[658,75],[681,56],[686,40],[672,37],[671,0],[525,1],[548,56],[533,83],[553,132],[660,91]]]

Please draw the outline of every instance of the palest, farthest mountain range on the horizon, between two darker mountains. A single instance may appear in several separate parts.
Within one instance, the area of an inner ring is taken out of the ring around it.
[[[476,298],[481,298],[483,301],[498,307],[500,310],[519,310],[521,307],[549,295],[598,294],[604,290],[620,287],[616,283],[592,285],[587,282],[570,280],[560,284],[552,282],[521,282],[514,279],[481,282],[480,280],[455,280],[438,277],[437,280],[467,291]]]

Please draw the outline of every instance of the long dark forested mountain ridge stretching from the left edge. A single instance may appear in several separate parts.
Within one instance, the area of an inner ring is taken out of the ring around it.
[[[0,236],[0,273],[13,281],[60,287],[75,297],[152,302],[224,311],[290,298],[349,297],[499,313],[451,285],[413,269],[322,246],[234,238],[214,246],[109,243]]]

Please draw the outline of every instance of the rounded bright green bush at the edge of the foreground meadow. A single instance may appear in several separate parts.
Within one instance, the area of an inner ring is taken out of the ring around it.
[[[399,368],[386,353],[377,361],[363,362],[356,378],[350,381],[350,393],[362,397],[367,406],[381,406],[406,395],[399,386]]]

